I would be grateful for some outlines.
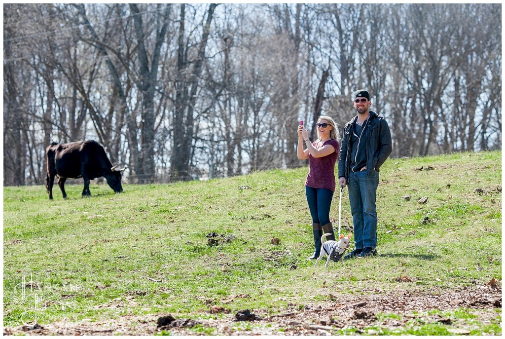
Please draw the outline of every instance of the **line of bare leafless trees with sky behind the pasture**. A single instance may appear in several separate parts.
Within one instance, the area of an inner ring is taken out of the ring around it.
[[[393,157],[501,146],[499,4],[5,4],[4,184],[95,139],[131,183],[306,165],[367,88]]]

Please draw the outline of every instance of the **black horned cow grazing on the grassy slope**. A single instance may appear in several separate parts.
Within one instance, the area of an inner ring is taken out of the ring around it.
[[[96,141],[76,141],[70,143],[53,142],[45,149],[47,161],[47,193],[49,199],[53,199],[53,183],[55,175],[58,175],[58,185],[67,199],[65,193],[65,181],[67,178],[84,179],[82,196],[90,197],[89,180],[105,177],[109,186],[116,193],[122,192],[121,171],[115,170],[111,161],[107,158],[104,147]]]

